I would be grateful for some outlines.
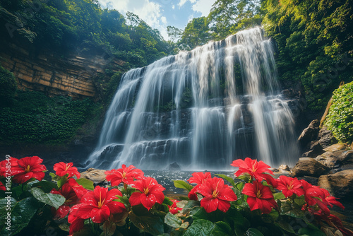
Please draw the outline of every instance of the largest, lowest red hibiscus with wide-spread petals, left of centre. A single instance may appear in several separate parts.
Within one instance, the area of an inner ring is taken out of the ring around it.
[[[121,213],[125,211],[125,206],[119,201],[116,195],[122,196],[121,191],[100,186],[95,187],[95,190],[89,191],[80,200],[80,204],[76,212],[76,217],[81,219],[91,218],[94,223],[102,223],[107,220],[111,214]],[[75,215],[75,214],[74,214]]]

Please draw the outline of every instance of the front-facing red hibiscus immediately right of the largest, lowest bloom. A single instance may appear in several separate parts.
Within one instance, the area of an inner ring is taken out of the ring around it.
[[[138,191],[131,194],[130,199],[128,199],[131,206],[142,203],[150,211],[150,208],[156,202],[162,204],[164,200],[164,194],[162,193],[164,187],[158,184],[157,180],[152,177],[144,177],[143,179],[136,180],[133,182],[133,187]]]

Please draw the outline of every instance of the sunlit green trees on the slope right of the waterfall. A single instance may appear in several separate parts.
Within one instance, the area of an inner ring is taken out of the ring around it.
[[[340,81],[352,81],[352,4],[266,0],[260,11],[266,32],[277,42],[280,79],[300,81],[309,110],[323,111]]]

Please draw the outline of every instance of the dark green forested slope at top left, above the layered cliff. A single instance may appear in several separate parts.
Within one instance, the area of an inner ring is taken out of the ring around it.
[[[0,28],[5,42],[49,49],[120,56],[133,66],[146,66],[172,52],[158,30],[133,13],[124,18],[102,9],[96,0],[1,1]],[[126,22],[129,23],[126,24]]]

